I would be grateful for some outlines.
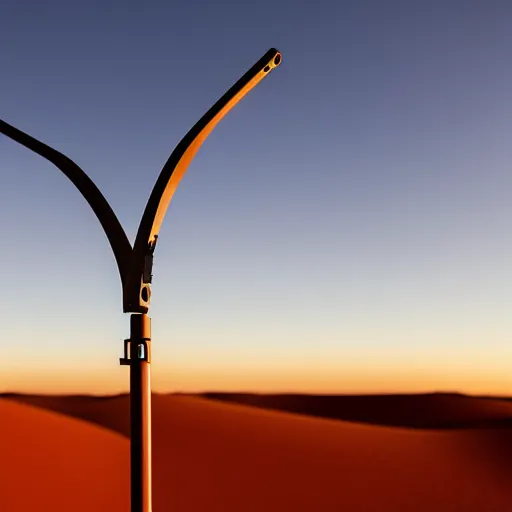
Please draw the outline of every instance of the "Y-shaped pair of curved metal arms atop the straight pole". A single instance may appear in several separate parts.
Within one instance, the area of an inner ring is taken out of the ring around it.
[[[153,187],[132,249],[114,211],[93,181],[70,158],[0,120],[3,133],[53,163],[81,192],[100,221],[114,251],[123,287],[125,313],[146,313],[151,290],[151,265],[158,231],[172,196],[188,165],[217,123],[263,78],[281,63],[274,48],[238,80],[192,127],[176,146]]]

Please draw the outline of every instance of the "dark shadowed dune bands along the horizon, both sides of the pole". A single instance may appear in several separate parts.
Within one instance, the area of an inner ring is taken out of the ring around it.
[[[165,396],[154,394],[156,396]],[[172,395],[169,395],[172,396]],[[512,428],[512,402],[456,393],[411,395],[300,395],[207,392],[208,400],[258,407],[318,418],[411,429]],[[18,402],[83,419],[129,436],[129,397],[126,394],[52,396],[0,394]]]

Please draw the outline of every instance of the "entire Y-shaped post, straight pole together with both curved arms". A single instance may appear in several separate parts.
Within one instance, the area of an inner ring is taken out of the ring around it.
[[[93,181],[70,158],[0,120],[0,133],[52,162],[81,192],[107,235],[121,277],[123,312],[130,317],[120,364],[130,366],[131,512],[151,512],[151,300],[153,253],[167,207],[201,144],[219,121],[268,73],[281,64],[274,48],[252,66],[176,146],[153,187],[132,248],[114,211]]]

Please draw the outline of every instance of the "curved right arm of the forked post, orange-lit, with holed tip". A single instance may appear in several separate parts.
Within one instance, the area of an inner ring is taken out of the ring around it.
[[[138,306],[145,259],[148,251],[154,250],[160,226],[174,191],[201,144],[217,123],[273,68],[279,66],[281,60],[281,53],[275,48],[266,52],[192,127],[167,160],[153,187],[135,239],[130,278],[125,287],[125,312],[146,312],[144,308]]]

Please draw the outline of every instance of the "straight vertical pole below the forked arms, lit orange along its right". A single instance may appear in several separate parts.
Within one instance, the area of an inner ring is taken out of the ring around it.
[[[151,319],[130,317],[131,512],[151,512]]]

